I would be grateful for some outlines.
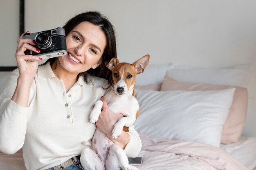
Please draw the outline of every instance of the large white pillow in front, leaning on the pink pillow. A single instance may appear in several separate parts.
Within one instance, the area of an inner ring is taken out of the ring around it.
[[[140,134],[220,147],[222,126],[235,88],[211,91],[139,90],[135,94],[140,114],[135,129]]]

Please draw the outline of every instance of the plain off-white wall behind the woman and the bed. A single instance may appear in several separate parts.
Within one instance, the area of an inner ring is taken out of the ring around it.
[[[17,13],[10,14],[7,4],[2,7],[1,2],[1,14],[13,18]],[[256,60],[255,0],[26,0],[25,7],[25,31],[30,32],[62,27],[83,11],[103,12],[116,28],[118,57],[125,62],[144,54],[150,54],[151,64],[200,67],[229,67]],[[6,18],[1,15],[1,23]],[[0,29],[1,37],[5,36],[5,27]],[[13,63],[16,40],[1,43],[1,51],[8,51],[0,57],[1,64]],[[243,135],[256,137],[255,64],[252,69]]]

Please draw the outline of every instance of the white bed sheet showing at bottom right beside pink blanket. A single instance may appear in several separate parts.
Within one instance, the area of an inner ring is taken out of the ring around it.
[[[221,144],[220,148],[249,170],[256,167],[256,137],[240,137],[238,142],[227,145]]]

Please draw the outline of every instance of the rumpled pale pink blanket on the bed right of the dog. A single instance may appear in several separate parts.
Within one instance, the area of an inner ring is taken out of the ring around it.
[[[140,170],[248,170],[220,148],[140,135]]]

